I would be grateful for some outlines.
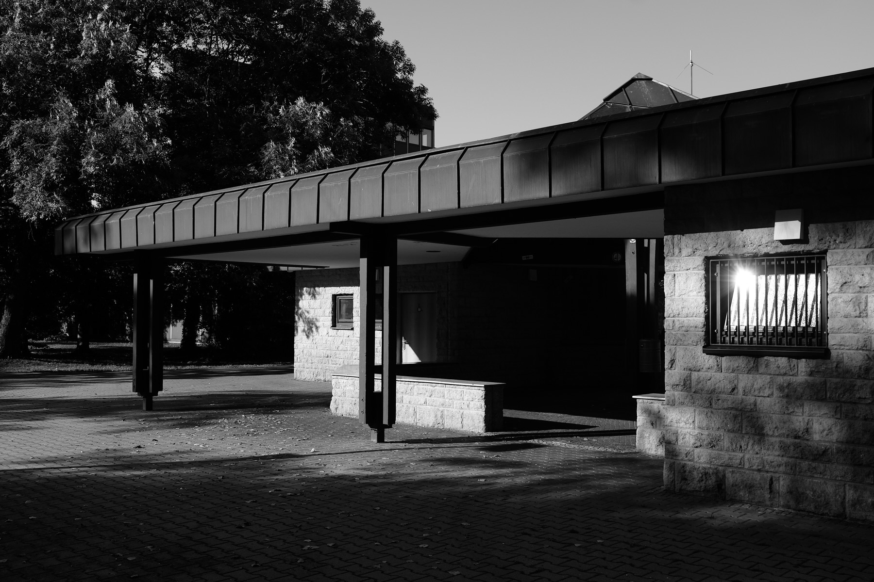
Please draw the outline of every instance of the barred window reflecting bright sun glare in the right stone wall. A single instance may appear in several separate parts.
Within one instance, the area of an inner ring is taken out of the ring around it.
[[[828,357],[825,255],[708,260],[704,353]]]

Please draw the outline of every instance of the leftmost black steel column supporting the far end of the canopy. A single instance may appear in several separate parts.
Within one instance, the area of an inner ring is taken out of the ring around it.
[[[134,264],[133,390],[142,409],[163,390],[163,261],[138,258]]]

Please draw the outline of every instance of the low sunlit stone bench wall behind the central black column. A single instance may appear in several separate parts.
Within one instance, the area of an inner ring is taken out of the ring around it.
[[[382,376],[376,375],[376,390]],[[502,382],[397,377],[398,422],[419,427],[451,428],[472,433],[503,429]],[[331,375],[330,411],[358,415],[358,368],[342,366]]]

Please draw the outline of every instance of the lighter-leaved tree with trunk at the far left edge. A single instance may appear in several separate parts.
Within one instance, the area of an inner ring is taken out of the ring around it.
[[[54,223],[158,195],[169,159],[158,110],[137,92],[135,38],[114,10],[0,6],[0,355],[11,356],[26,352],[31,290],[55,270]]]

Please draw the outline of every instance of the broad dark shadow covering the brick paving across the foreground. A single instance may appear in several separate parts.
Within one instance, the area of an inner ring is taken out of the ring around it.
[[[495,460],[478,450],[398,449],[403,457],[364,466],[394,451],[364,444],[332,454],[343,470],[309,455],[7,469],[0,504],[16,535],[3,540],[5,566],[23,580],[872,572],[858,557],[874,528],[666,494],[661,462],[648,457],[524,447]],[[101,551],[86,558],[91,548]]]

